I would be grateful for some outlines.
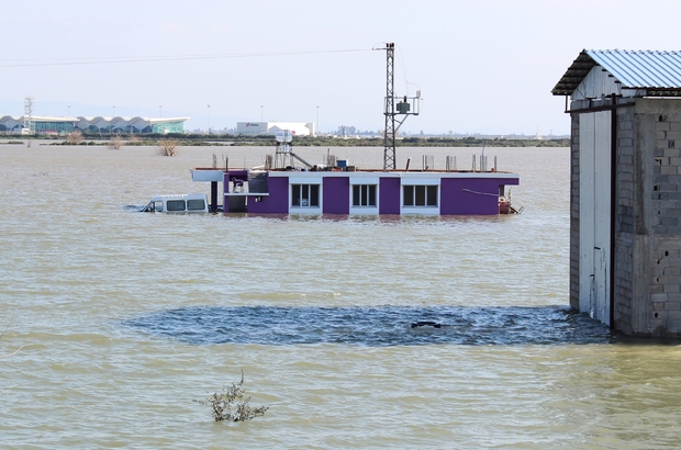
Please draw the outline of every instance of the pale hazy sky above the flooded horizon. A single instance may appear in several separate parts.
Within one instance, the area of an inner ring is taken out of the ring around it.
[[[0,116],[384,127],[387,42],[409,134],[568,135],[551,89],[590,49],[679,50],[674,0],[4,2]],[[210,106],[209,106],[210,105]]]

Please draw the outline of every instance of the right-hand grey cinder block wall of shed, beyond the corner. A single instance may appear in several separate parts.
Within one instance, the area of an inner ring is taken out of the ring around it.
[[[646,284],[635,294],[634,334],[681,336],[681,99],[636,102],[640,159],[640,243],[634,258],[645,262]],[[636,326],[639,324],[639,326]]]

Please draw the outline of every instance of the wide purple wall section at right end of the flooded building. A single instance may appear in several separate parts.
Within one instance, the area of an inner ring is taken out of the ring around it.
[[[444,178],[440,184],[439,213],[446,214],[499,214],[499,185],[517,184],[510,178]],[[491,193],[483,195],[465,191]]]

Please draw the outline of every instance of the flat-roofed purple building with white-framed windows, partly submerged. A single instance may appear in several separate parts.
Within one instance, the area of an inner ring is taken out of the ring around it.
[[[193,181],[223,182],[224,211],[257,214],[491,215],[515,212],[517,173],[481,170],[193,169]]]

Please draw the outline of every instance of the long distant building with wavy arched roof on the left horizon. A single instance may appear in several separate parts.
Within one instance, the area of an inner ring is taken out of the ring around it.
[[[30,119],[30,120],[29,120]],[[66,134],[74,130],[83,133],[135,133],[167,134],[185,133],[185,122],[189,117],[85,117],[85,116],[19,116],[3,115],[0,117],[0,133],[15,134]],[[30,126],[30,128],[27,128]]]

